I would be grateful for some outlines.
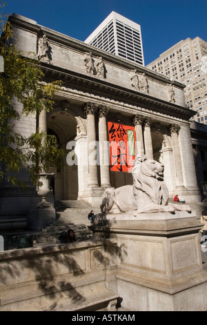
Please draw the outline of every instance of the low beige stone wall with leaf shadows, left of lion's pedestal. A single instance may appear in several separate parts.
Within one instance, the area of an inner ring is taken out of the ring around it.
[[[0,310],[116,310],[116,250],[105,240],[0,252]]]

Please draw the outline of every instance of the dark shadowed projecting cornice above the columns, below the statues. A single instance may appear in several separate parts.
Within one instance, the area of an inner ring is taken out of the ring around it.
[[[164,114],[167,112],[169,115],[183,120],[189,120],[195,115],[195,111],[191,111],[186,107],[179,106],[175,103],[169,104],[169,102],[155,99],[155,97],[151,97],[145,93],[112,85],[106,82],[106,80],[103,81],[88,75],[80,75],[79,73],[68,71],[57,66],[51,66],[46,63],[42,63],[41,68],[48,82],[62,80],[63,87],[66,88],[68,87],[83,92],[88,92],[90,90],[90,92],[95,95],[102,95],[112,100],[119,100],[120,102],[142,106],[150,111]]]

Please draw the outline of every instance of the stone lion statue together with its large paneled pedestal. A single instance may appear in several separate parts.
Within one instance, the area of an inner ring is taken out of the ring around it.
[[[131,311],[206,310],[195,212],[168,204],[164,166],[135,159],[133,185],[106,189],[90,229],[117,243],[117,292]],[[154,172],[153,172],[154,171]]]

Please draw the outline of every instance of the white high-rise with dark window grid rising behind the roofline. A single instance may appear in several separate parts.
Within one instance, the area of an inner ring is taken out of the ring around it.
[[[141,27],[117,12],[112,11],[85,43],[144,66]]]

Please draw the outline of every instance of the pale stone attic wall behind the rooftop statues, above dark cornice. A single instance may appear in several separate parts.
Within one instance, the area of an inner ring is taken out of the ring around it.
[[[168,85],[171,84],[170,78],[150,71],[139,64],[133,64],[127,59],[111,55],[106,51],[73,39],[70,36],[40,26],[32,19],[17,14],[13,14],[10,19],[13,24],[17,47],[26,56],[28,56],[28,53],[34,53],[34,57],[35,55],[37,57],[37,44],[39,38],[45,33],[51,46],[50,63],[52,66],[57,66],[79,75],[90,75],[90,77],[100,80],[101,77],[97,73],[97,62],[102,57],[106,66],[106,74],[103,80],[107,81],[111,86],[117,85],[126,90],[133,90],[131,73],[132,70],[137,68],[138,73],[144,73],[148,77],[148,92],[144,93],[159,100],[169,101]],[[20,24],[21,28],[19,28]],[[84,59],[90,52],[94,60],[95,73],[87,73],[86,71]],[[173,84],[176,104],[186,107],[183,85],[177,81],[174,81]]]

